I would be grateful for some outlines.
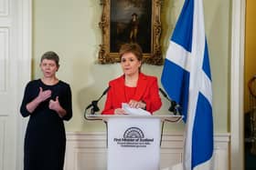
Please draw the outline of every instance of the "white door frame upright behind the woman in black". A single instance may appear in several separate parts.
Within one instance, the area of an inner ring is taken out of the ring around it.
[[[16,0],[18,50],[17,50],[17,113],[25,90],[25,85],[31,80],[32,60],[32,0]],[[23,169],[24,136],[27,120],[18,116],[16,119],[16,170]]]

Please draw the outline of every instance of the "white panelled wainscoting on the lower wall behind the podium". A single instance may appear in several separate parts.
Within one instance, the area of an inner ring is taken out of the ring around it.
[[[105,170],[107,148],[105,133],[67,133],[65,170]],[[214,137],[215,169],[229,169],[229,134]],[[161,146],[161,168],[182,162],[183,135],[164,134]]]

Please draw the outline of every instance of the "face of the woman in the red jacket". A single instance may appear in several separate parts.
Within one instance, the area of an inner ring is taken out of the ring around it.
[[[121,66],[124,75],[135,75],[139,73],[142,62],[137,59],[133,53],[125,53],[121,57]]]

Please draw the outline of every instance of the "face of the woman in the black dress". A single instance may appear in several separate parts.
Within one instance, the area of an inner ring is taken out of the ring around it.
[[[54,60],[43,59],[40,67],[44,77],[54,77],[59,69],[59,66]]]

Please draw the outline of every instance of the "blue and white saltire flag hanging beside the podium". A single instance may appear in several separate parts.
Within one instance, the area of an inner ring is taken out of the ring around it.
[[[161,82],[184,115],[183,168],[212,169],[212,88],[202,0],[185,1],[170,39]]]

